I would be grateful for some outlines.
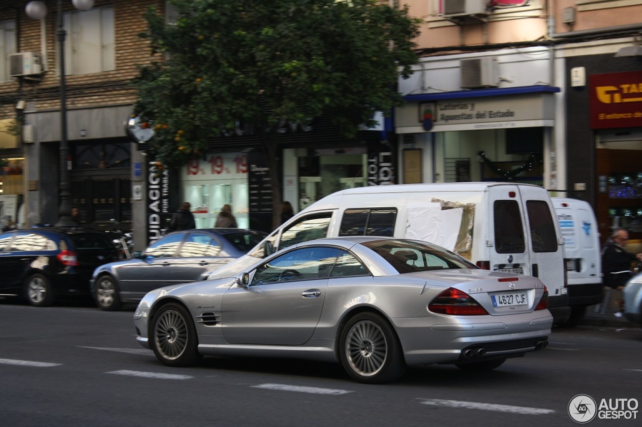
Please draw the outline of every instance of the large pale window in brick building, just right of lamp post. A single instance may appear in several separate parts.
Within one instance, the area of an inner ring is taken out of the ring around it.
[[[116,69],[114,8],[64,13],[66,74]]]

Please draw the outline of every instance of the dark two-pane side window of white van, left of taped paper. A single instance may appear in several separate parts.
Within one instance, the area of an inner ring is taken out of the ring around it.
[[[340,236],[393,236],[396,208],[346,209],[343,212]]]

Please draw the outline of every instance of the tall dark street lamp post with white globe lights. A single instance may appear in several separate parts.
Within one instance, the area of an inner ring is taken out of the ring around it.
[[[65,38],[67,31],[62,19],[62,0],[58,3],[58,69],[60,71],[60,154],[58,167],[60,168],[60,198],[58,200],[58,222],[56,227],[76,226],[71,218],[71,194],[69,193],[69,169],[67,169],[67,156],[69,155],[69,141],[67,140],[67,87],[65,82]],[[89,10],[94,6],[94,0],[72,0],[74,8]],[[24,8],[28,17],[42,20],[47,15],[47,6],[40,0],[30,1]]]

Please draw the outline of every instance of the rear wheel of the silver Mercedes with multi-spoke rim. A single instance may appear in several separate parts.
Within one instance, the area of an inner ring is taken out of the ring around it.
[[[406,371],[399,339],[379,315],[361,313],[352,317],[341,332],[339,346],[343,369],[361,383],[388,383]]]

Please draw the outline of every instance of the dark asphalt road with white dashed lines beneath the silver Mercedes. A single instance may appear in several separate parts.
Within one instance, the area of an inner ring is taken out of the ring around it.
[[[363,385],[338,364],[305,360],[166,367],[135,342],[132,314],[0,301],[0,425],[550,427],[576,424],[568,406],[578,394],[596,406],[642,402],[638,328],[556,329],[548,348],[489,373],[433,365]],[[636,426],[642,417],[593,411],[590,426]]]

